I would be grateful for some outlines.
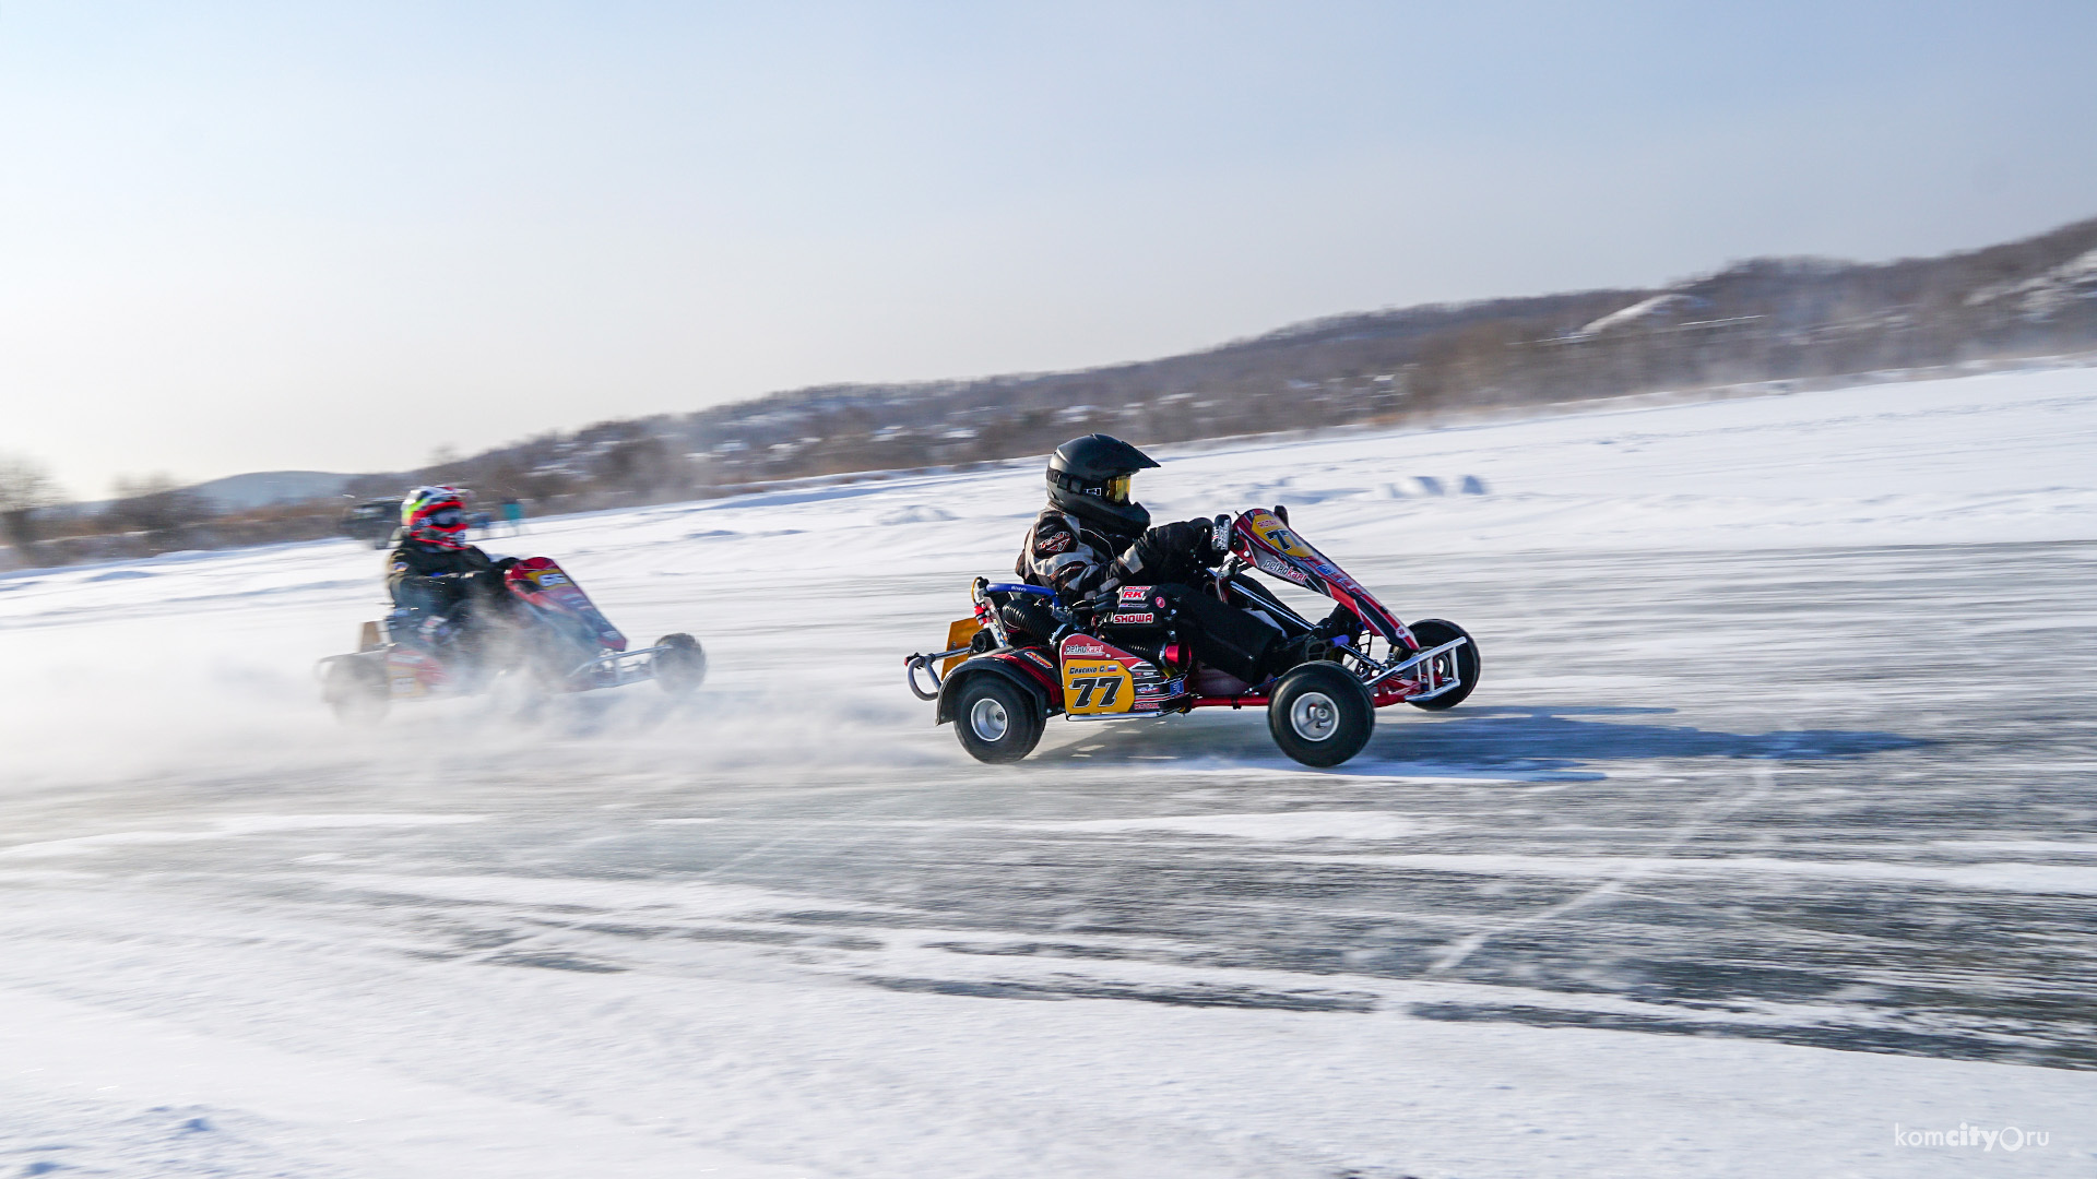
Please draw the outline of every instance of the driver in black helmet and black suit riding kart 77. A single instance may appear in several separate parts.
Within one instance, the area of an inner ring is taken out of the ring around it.
[[[1231,554],[1216,548],[1216,524],[1210,520],[1151,527],[1151,514],[1128,497],[1128,485],[1139,470],[1153,466],[1149,455],[1107,434],[1057,447],[1048,455],[1048,506],[1034,518],[1013,573],[1030,585],[1055,590],[1065,604],[1118,585],[1147,583],[1172,604],[1195,659],[1246,684],[1315,659],[1332,638],[1361,627],[1353,610],[1338,606],[1309,636],[1292,640],[1267,617],[1195,590]],[[1048,638],[1040,625],[1025,629]]]

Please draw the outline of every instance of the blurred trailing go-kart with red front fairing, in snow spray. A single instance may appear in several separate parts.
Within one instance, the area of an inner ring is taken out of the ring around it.
[[[499,684],[531,696],[654,680],[686,696],[707,678],[707,652],[688,634],[629,650],[627,638],[554,560],[503,562],[501,590],[478,602],[455,640],[421,638],[424,615],[394,608],[363,623],[352,655],[315,669],[321,699],[344,722],[371,724],[394,701],[466,696]]]

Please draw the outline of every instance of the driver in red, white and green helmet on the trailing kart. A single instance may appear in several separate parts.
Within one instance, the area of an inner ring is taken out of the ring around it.
[[[417,487],[401,501],[401,545],[386,560],[386,592],[411,610],[415,636],[432,648],[459,640],[476,610],[503,602],[503,571],[516,558],[491,560],[466,541],[466,493]]]

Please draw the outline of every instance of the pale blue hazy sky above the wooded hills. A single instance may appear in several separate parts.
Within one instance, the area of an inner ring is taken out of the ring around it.
[[[2097,4],[0,4],[0,451],[780,388],[2097,216]]]

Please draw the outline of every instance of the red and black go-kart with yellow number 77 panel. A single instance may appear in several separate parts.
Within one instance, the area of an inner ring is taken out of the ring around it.
[[[1451,709],[1478,686],[1478,644],[1455,623],[1405,625],[1367,590],[1288,524],[1285,508],[1218,516],[1229,560],[1197,590],[1264,617],[1290,640],[1315,623],[1248,577],[1258,571],[1323,594],[1361,623],[1317,657],[1248,684],[1195,661],[1176,631],[1172,598],[1151,585],[1120,585],[1061,604],[1038,585],[969,590],[975,613],[948,627],[948,648],[910,655],[904,680],[937,703],[935,724],[956,722],[977,762],[1017,762],[1034,751],[1051,715],[1072,722],[1162,717],[1193,709],[1267,707],[1275,745],[1306,766],[1338,766],[1361,751],[1376,709]],[[1384,646],[1376,655],[1378,640]]]

